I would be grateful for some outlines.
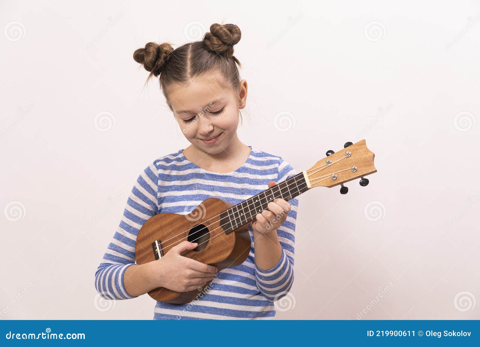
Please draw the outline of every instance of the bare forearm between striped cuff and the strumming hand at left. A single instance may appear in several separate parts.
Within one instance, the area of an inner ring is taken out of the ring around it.
[[[159,287],[158,279],[151,270],[151,263],[129,266],[123,275],[123,285],[132,297],[143,295]]]

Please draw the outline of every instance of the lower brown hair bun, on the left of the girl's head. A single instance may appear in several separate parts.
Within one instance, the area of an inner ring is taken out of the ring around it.
[[[169,43],[158,45],[156,42],[149,42],[145,48],[138,48],[133,52],[133,59],[156,77],[165,68],[165,63],[172,52],[173,47]]]

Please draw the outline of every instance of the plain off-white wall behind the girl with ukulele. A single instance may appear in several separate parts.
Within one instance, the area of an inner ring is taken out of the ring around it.
[[[276,318],[479,319],[476,1],[2,1],[1,319],[153,317],[147,295],[101,306],[94,287],[139,173],[189,145],[132,54],[222,21],[242,32],[242,142],[297,171],[363,130],[375,153],[369,186],[301,197]]]

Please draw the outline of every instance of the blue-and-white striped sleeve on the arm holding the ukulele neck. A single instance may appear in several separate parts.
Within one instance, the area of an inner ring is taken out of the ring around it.
[[[280,158],[277,184],[294,176],[296,171],[286,161]],[[269,301],[276,301],[287,295],[293,284],[293,265],[295,253],[295,224],[299,200],[294,198],[287,219],[276,229],[278,240],[282,246],[282,257],[278,263],[268,270],[262,270],[255,264],[255,279],[257,287]]]

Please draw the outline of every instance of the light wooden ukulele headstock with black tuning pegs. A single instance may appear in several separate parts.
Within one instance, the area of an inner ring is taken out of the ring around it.
[[[344,149],[338,152],[329,150],[326,155],[305,171],[312,188],[320,186],[330,188],[341,184],[340,193],[346,194],[348,188],[344,187],[343,183],[361,177],[360,185],[366,186],[369,181],[363,176],[377,172],[373,165],[375,155],[367,148],[365,140],[356,144],[347,142]]]

